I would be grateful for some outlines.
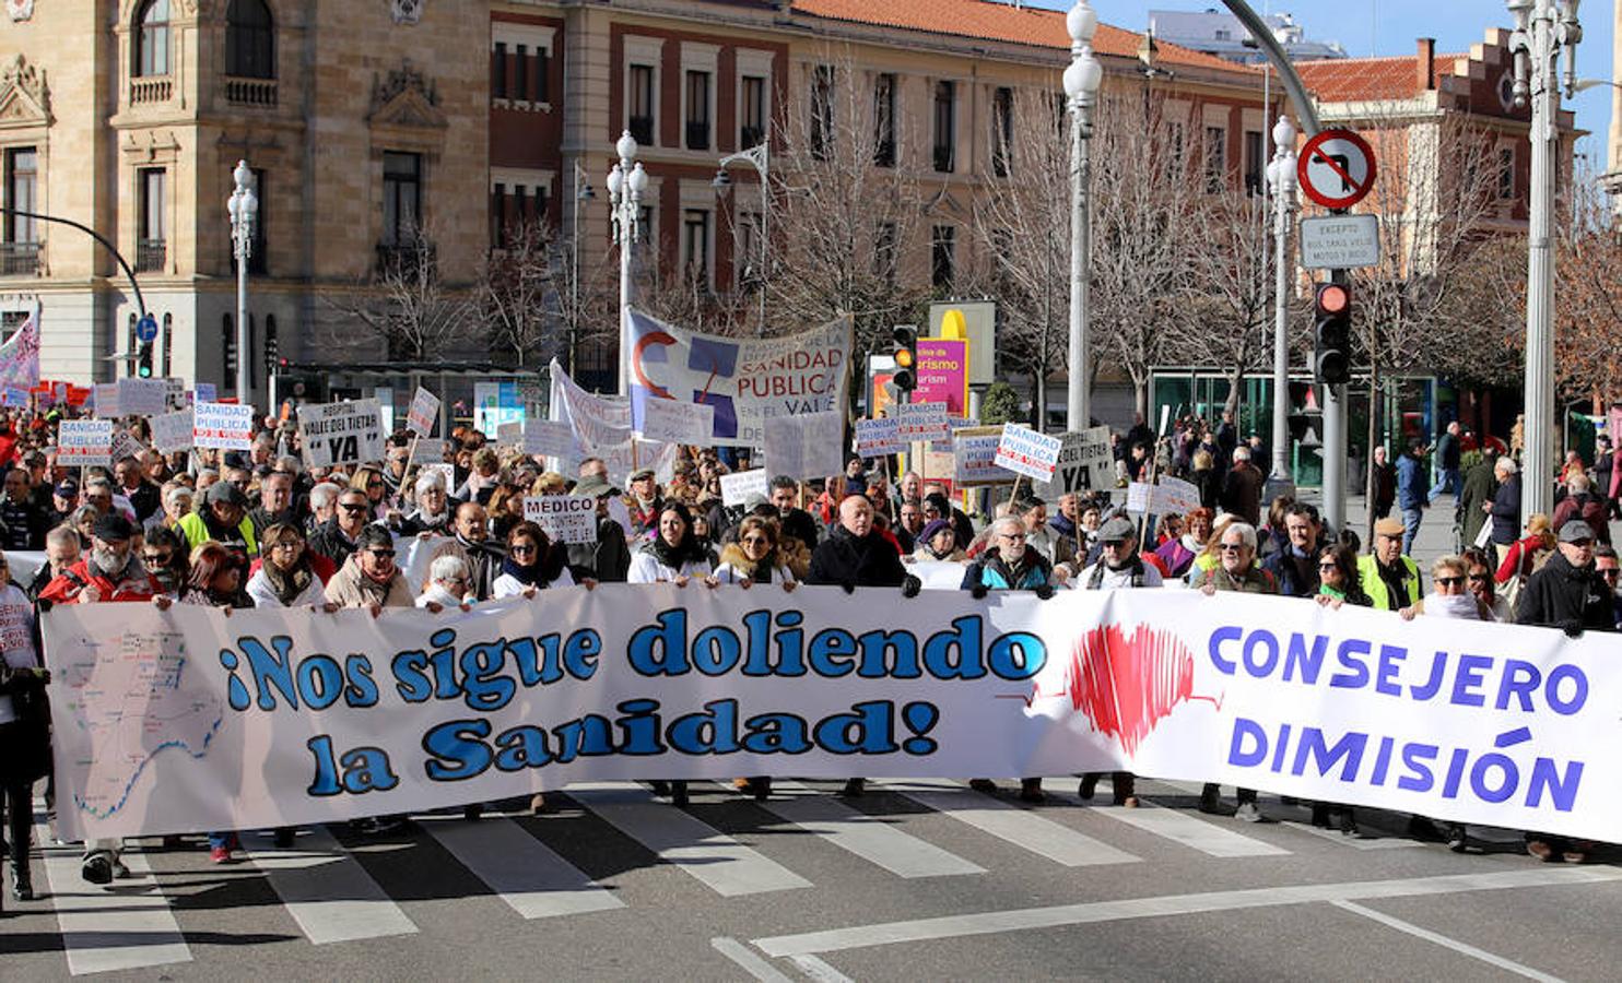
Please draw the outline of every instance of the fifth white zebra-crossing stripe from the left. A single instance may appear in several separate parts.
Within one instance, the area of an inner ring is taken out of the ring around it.
[[[934,843],[902,832],[879,816],[869,816],[798,782],[774,782],[772,798],[761,806],[813,832],[840,850],[876,863],[899,878],[983,874],[986,869]]]

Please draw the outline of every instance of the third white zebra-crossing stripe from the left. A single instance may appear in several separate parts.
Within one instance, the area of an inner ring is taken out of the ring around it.
[[[485,813],[477,822],[461,816],[415,819],[522,918],[556,918],[624,907],[613,892],[506,816]]]

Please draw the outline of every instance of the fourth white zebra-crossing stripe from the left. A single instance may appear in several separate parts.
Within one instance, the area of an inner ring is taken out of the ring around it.
[[[811,887],[800,874],[633,782],[569,785],[568,796],[722,897]]]

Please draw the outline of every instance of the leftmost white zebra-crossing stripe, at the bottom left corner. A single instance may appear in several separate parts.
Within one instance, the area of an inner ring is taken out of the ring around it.
[[[128,879],[101,887],[79,876],[78,847],[50,845],[44,822],[34,827],[34,839],[44,855],[49,900],[57,912],[70,973],[83,977],[191,962],[191,947],[139,850],[123,852]]]

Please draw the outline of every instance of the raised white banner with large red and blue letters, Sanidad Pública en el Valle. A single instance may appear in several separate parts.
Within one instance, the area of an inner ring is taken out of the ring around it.
[[[629,310],[626,381],[634,425],[650,399],[715,407],[717,446],[759,448],[767,417],[843,409],[852,328],[830,321],[788,337],[717,337]]]

